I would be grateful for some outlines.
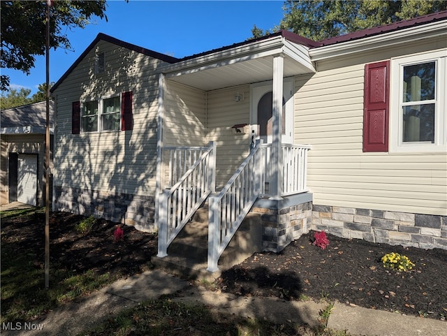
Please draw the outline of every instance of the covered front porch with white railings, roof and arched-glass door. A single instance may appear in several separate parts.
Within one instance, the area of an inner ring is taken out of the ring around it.
[[[307,193],[310,147],[293,143],[293,78],[315,72],[312,43],[279,31],[161,68],[159,257],[167,256],[170,242],[208,201],[207,270],[217,270],[256,200],[274,208],[284,197]],[[266,94],[271,110],[261,117]]]

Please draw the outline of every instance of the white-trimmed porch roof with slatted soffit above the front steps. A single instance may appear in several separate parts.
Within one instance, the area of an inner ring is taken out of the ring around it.
[[[284,78],[315,73],[309,48],[318,42],[289,31],[180,59],[160,68],[166,78],[205,91],[271,80],[273,58],[284,57]]]

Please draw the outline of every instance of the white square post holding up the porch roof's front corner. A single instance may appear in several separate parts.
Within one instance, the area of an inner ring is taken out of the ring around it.
[[[273,58],[273,102],[272,102],[272,200],[281,199],[282,191],[282,155],[281,155],[281,119],[283,96],[284,57],[280,54]]]

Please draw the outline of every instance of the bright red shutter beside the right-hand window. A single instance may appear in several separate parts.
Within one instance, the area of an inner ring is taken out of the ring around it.
[[[390,61],[365,66],[363,152],[388,152]]]

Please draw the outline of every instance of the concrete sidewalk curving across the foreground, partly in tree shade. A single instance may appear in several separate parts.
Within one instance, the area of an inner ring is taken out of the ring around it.
[[[32,321],[28,325],[13,323],[8,326],[9,330],[4,330],[6,326],[2,325],[1,335],[76,335],[105,321],[121,309],[177,291],[181,291],[181,295],[173,300],[179,302],[204,304],[210,309],[224,310],[228,314],[258,317],[277,323],[294,321],[316,326],[319,312],[326,306],[315,302],[247,298],[207,291],[201,286],[190,286],[189,282],[161,270],[150,270],[119,280],[87,298],[55,309],[54,312],[48,313],[45,319]],[[362,336],[447,336],[445,321],[351,307],[340,303],[335,303],[332,309],[328,328],[346,330],[351,335]]]

